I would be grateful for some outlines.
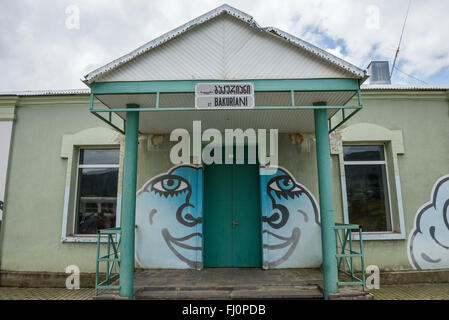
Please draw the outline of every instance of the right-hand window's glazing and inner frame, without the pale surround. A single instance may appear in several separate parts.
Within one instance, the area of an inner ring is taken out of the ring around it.
[[[390,232],[390,196],[383,145],[343,146],[349,222],[366,232]]]

